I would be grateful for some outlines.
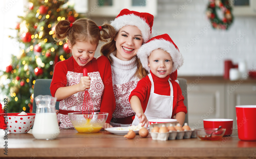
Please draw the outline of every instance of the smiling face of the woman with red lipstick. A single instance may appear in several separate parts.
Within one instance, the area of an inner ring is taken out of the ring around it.
[[[140,29],[131,25],[122,27],[114,40],[116,41],[116,57],[124,61],[131,60],[143,42]]]

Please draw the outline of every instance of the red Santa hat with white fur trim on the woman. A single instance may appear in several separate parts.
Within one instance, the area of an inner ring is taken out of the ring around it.
[[[115,28],[116,32],[128,25],[138,27],[142,33],[143,43],[146,43],[151,38],[153,20],[154,16],[149,13],[123,9],[110,24]]]

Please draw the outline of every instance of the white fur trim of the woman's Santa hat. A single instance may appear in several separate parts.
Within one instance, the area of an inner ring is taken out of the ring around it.
[[[128,25],[138,27],[142,33],[143,43],[146,43],[151,38],[150,26],[145,22],[144,18],[134,14],[117,17],[111,21],[110,25],[115,28],[116,32],[118,32],[122,27]]]

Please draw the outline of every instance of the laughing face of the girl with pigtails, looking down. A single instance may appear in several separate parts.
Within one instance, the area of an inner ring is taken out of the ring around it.
[[[97,44],[91,44],[89,42],[76,42],[71,46],[68,40],[68,47],[71,47],[72,54],[79,66],[85,66],[89,61],[92,60]]]

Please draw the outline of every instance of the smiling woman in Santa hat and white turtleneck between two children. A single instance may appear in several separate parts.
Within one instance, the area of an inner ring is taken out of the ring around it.
[[[101,54],[108,57],[111,63],[112,82],[116,108],[110,125],[113,127],[131,126],[135,112],[129,103],[129,95],[138,81],[145,77],[146,70],[137,59],[137,50],[151,38],[154,16],[128,9],[111,21],[116,36],[110,43],[101,48]]]

